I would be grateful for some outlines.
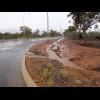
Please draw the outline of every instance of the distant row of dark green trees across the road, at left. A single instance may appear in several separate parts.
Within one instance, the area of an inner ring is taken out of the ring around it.
[[[32,29],[29,28],[28,26],[21,26],[20,31],[21,32],[17,33],[0,32],[0,39],[42,38],[42,37],[47,37],[47,34],[49,34],[50,37],[61,36],[59,32],[54,31],[53,29],[51,29],[49,33],[43,31],[40,34],[39,29],[37,29],[35,32],[32,32]]]

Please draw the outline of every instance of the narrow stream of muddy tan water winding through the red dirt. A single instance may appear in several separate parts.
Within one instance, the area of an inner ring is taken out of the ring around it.
[[[63,38],[62,38],[63,39]],[[60,63],[62,63],[64,66],[67,67],[71,67],[71,68],[76,68],[79,70],[83,70],[83,68],[81,68],[80,66],[72,63],[69,61],[69,59],[66,59],[65,57],[60,58],[55,52],[54,50],[56,50],[59,46],[61,46],[59,44],[59,42],[62,40],[58,40],[57,42],[54,42],[53,44],[49,45],[48,48],[46,49],[46,52],[48,53],[49,59],[55,59],[57,61],[59,61]],[[53,45],[53,46],[52,46]]]

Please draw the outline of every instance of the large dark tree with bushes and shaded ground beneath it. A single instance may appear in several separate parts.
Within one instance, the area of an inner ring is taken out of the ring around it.
[[[71,40],[79,40],[79,44],[100,48],[100,12],[70,12],[67,17],[73,20],[73,26],[65,29],[63,35]],[[69,21],[71,23],[71,21]],[[89,31],[93,28],[95,31]]]

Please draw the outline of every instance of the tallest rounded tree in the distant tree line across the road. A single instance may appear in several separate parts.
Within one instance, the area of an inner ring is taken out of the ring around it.
[[[20,30],[21,33],[25,35],[25,37],[31,37],[32,36],[32,29],[30,29],[28,26],[21,26]]]

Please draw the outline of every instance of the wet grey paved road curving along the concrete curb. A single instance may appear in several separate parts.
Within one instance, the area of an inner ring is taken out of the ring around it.
[[[45,39],[0,40],[0,87],[25,87],[21,61],[25,49]]]

